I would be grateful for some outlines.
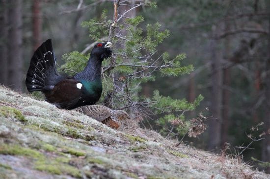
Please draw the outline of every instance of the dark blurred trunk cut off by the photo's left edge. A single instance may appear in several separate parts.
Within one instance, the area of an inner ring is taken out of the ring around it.
[[[0,84],[7,82],[7,0],[0,0]]]

